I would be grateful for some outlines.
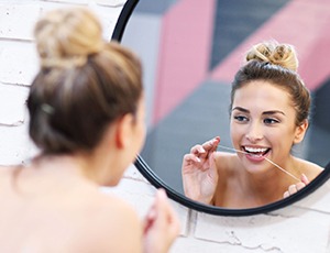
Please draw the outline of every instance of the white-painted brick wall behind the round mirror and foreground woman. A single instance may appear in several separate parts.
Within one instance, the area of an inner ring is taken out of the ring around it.
[[[156,0],[155,0],[156,1]],[[35,152],[26,133],[24,103],[37,69],[32,28],[40,14],[64,6],[89,6],[100,16],[110,38],[125,0],[0,0],[0,164],[22,163]],[[330,183],[316,193],[272,213],[217,217],[198,213],[176,202],[182,235],[172,253],[197,252],[330,252]],[[103,188],[127,199],[143,217],[154,187],[131,166],[120,185]]]

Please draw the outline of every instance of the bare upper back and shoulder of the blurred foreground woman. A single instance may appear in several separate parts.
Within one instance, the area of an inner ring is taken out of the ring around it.
[[[24,243],[37,238],[40,248],[51,246],[57,252],[142,251],[142,224],[133,207],[95,185],[80,179],[63,180],[62,176],[55,179],[54,174],[40,175],[21,167],[0,167],[0,197],[8,204],[1,216],[11,223],[0,229],[1,234],[11,234],[10,229],[20,227],[22,233],[13,233],[15,241]],[[18,219],[15,213],[24,205],[34,211]],[[21,226],[21,221],[33,228]],[[29,238],[20,235],[26,233]]]

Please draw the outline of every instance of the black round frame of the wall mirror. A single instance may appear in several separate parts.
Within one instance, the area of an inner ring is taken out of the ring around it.
[[[114,31],[112,34],[111,40],[121,42],[123,32],[125,30],[127,23],[134,11],[139,0],[128,0],[123,6],[123,9],[119,15],[118,22],[114,26]],[[284,207],[287,207],[305,197],[314,193],[317,188],[323,185],[330,177],[330,163],[326,166],[324,170],[314,179],[308,186],[299,190],[297,194],[289,196],[288,198],[282,199],[279,201],[256,207],[256,208],[249,208],[249,209],[228,209],[228,208],[220,208],[220,207],[212,207],[208,205],[202,205],[200,202],[194,201],[184,195],[175,191],[170,187],[168,187],[145,163],[145,161],[138,155],[135,162],[135,167],[139,172],[156,188],[164,188],[170,199],[184,205],[187,208],[206,212],[209,215],[217,215],[217,216],[232,216],[232,217],[240,217],[240,216],[253,216],[253,215],[261,215],[267,213]]]

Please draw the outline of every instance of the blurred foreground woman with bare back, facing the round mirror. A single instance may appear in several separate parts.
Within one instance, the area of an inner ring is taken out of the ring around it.
[[[1,169],[1,252],[167,252],[179,224],[164,190],[142,226],[116,186],[145,138],[140,59],[102,40],[87,9],[46,13],[35,26],[41,69],[30,135],[41,153]]]

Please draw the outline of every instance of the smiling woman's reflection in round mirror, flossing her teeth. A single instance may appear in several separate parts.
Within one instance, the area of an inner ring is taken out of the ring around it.
[[[264,206],[295,194],[322,168],[295,157],[308,128],[310,95],[292,45],[265,42],[246,54],[230,105],[235,154],[217,152],[220,138],[196,145],[183,161],[185,195],[228,208]]]

